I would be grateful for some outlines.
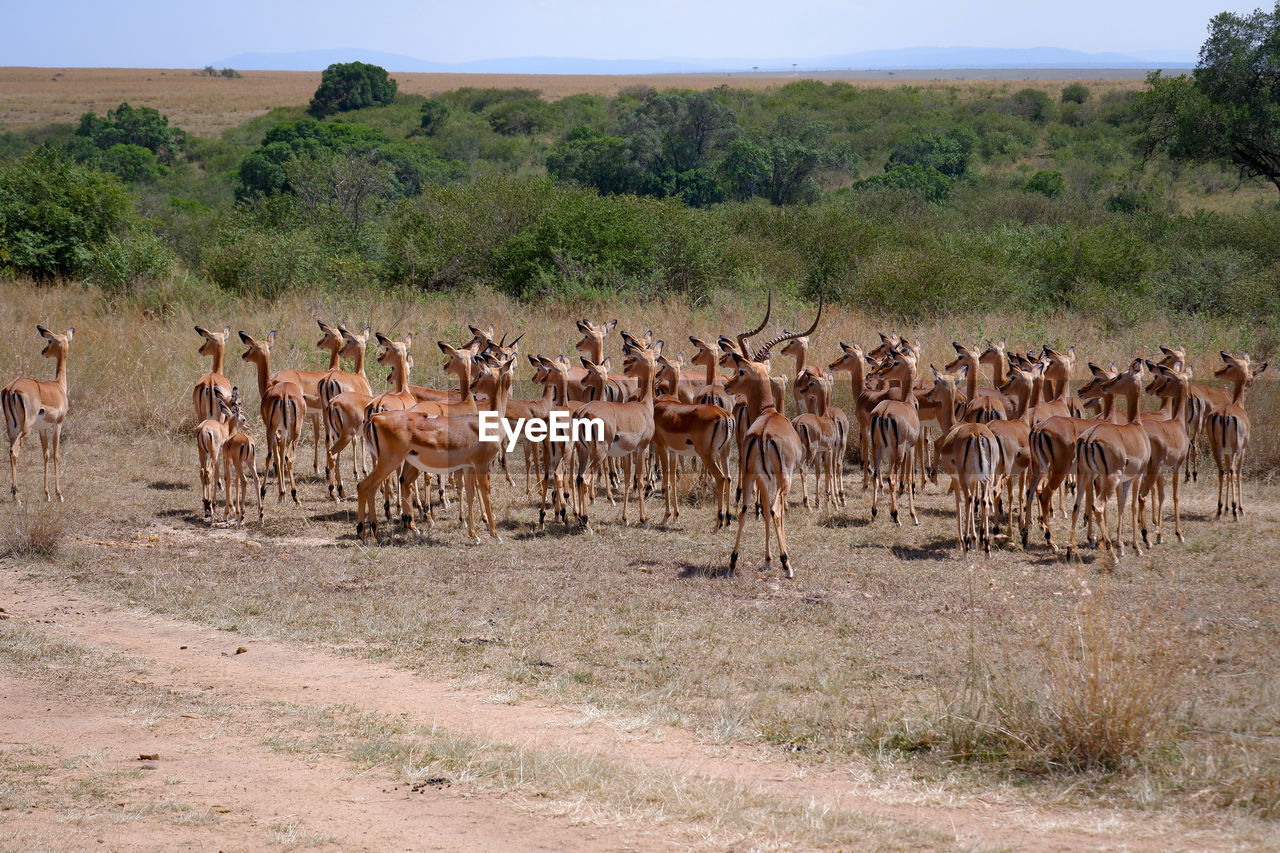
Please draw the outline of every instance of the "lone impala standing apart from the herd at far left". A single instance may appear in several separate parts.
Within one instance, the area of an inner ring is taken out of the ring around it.
[[[52,382],[14,379],[0,391],[0,409],[4,410],[5,432],[9,434],[9,478],[14,503],[22,503],[18,498],[18,452],[31,430],[40,435],[45,456],[45,500],[52,500],[49,494],[50,461],[54,462],[54,493],[59,501],[63,500],[60,444],[63,421],[70,406],[67,396],[67,351],[76,337],[76,329],[58,334],[37,325],[36,330],[47,341],[40,355],[54,360]]]

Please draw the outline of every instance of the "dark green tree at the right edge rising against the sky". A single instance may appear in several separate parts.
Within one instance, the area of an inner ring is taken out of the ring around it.
[[[1222,163],[1280,190],[1280,3],[1210,22],[1192,77],[1153,72],[1139,100],[1142,149]]]

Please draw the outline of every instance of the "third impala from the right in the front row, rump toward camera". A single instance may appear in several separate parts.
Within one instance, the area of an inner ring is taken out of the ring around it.
[[[1128,402],[1126,420],[1123,424],[1100,423],[1091,426],[1075,442],[1075,505],[1071,508],[1071,539],[1068,544],[1068,558],[1075,551],[1075,524],[1079,519],[1082,502],[1087,515],[1092,512],[1094,500],[1101,506],[1102,544],[1108,548],[1115,560],[1124,556],[1124,505],[1133,492],[1130,524],[1133,526],[1133,549],[1140,557],[1138,544],[1138,493],[1139,478],[1151,461],[1151,439],[1138,420],[1138,382],[1142,378],[1142,359],[1135,359],[1126,370],[1114,379],[1101,384],[1103,394],[1124,396]],[[1107,524],[1107,502],[1116,498],[1116,540],[1111,542]]]

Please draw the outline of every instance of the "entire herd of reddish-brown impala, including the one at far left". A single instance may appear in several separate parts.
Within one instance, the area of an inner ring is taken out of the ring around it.
[[[988,342],[986,350],[955,343],[956,359],[929,375],[919,369],[920,343],[900,336],[881,336],[872,350],[841,343],[840,357],[827,368],[808,364],[809,336],[822,319],[805,332],[783,332],[751,350],[748,341],[764,329],[772,314],[772,297],[760,324],[735,338],[714,343],[690,338],[698,353],[695,370],[684,370],[684,357],[663,355],[663,342],[653,333],[621,333],[622,373],[612,373],[604,355],[607,337],[616,320],[577,324],[582,334],[576,350],[581,366],[563,355],[527,355],[534,382],[543,386],[536,400],[512,400],[511,380],[518,361],[518,338],[511,343],[494,339],[493,327],[472,327],[472,338],[461,347],[439,342],[444,369],[458,380],[457,389],[434,389],[410,384],[413,365],[412,336],[396,341],[374,337],[380,352],[378,364],[390,370],[390,391],[375,394],[365,371],[370,329],[352,332],[320,323],[317,346],[329,351],[329,368],[320,371],[271,370],[275,332],[265,338],[239,333],[244,352],[257,377],[260,414],[265,426],[265,470],[257,474],[257,446],[246,432],[243,394],[223,373],[230,328],[221,332],[196,327],[204,338],[200,355],[212,360],[209,373],[196,383],[200,480],[205,517],[218,516],[218,491],[225,493],[223,520],[243,524],[246,492],[253,482],[259,520],[270,473],[275,471],[278,500],[285,496],[285,480],[298,501],[293,476],[294,455],[311,421],[319,471],[321,430],[325,447],[325,482],[332,500],[343,500],[346,488],[339,457],[352,450],[357,485],[357,535],[376,535],[376,498],[393,517],[392,505],[407,530],[416,530],[415,514],[433,514],[429,479],[436,475],[440,502],[447,505],[444,482],[466,494],[466,525],[474,540],[475,498],[490,535],[498,537],[490,505],[490,467],[502,462],[503,444],[481,441],[481,415],[497,412],[507,423],[547,421],[561,414],[573,419],[596,419],[603,430],[586,433],[575,442],[538,443],[527,439],[525,491],[532,492],[531,471],[540,484],[535,500],[539,526],[553,517],[591,529],[590,506],[603,484],[611,502],[613,489],[622,491],[622,521],[626,523],[631,492],[636,492],[639,516],[645,521],[645,497],[654,491],[658,469],[664,496],[662,521],[678,519],[677,485],[684,457],[696,457],[716,494],[716,530],[731,524],[737,507],[737,535],[730,553],[730,569],[739,558],[742,528],[750,510],[764,516],[764,560],[772,560],[771,534],[777,535],[782,569],[792,576],[787,556],[787,496],[796,473],[801,478],[803,503],[810,508],[845,506],[844,460],[856,430],[863,462],[863,489],[872,491],[870,515],[879,512],[881,491],[887,492],[890,515],[899,521],[899,497],[905,494],[911,521],[915,491],[938,473],[951,478],[956,503],[956,542],[991,551],[991,528],[1001,514],[1007,535],[1015,540],[1015,524],[1025,548],[1033,510],[1044,539],[1055,552],[1055,516],[1066,517],[1066,494],[1074,493],[1068,555],[1076,547],[1080,511],[1088,539],[1119,560],[1124,553],[1123,524],[1129,505],[1130,540],[1137,553],[1149,547],[1148,517],[1155,542],[1162,539],[1165,473],[1172,487],[1174,532],[1183,539],[1179,488],[1185,474],[1196,476],[1196,446],[1207,439],[1219,469],[1217,517],[1229,508],[1236,519],[1244,512],[1240,473],[1249,443],[1245,392],[1266,364],[1253,364],[1248,353],[1222,352],[1224,366],[1215,377],[1231,386],[1192,384],[1192,371],[1183,348],[1161,347],[1158,359],[1134,359],[1126,368],[1089,364],[1091,380],[1073,392],[1069,379],[1075,364],[1074,347],[1066,351],[1043,347],[1030,353],[1006,352],[1005,342]],[[18,501],[18,455],[36,432],[45,460],[45,497],[49,467],[54,469],[54,493],[61,500],[59,439],[68,412],[67,356],[74,329],[58,334],[37,327],[45,338],[42,355],[54,359],[51,382],[17,379],[0,391],[9,434],[9,466],[13,496]],[[795,378],[771,374],[771,355],[795,359]],[[352,360],[343,370],[340,360]],[[979,386],[979,371],[988,366],[993,386]],[[719,373],[727,369],[728,375]],[[852,383],[852,418],[832,405],[838,371]],[[1147,377],[1151,382],[1147,383]],[[1146,388],[1143,387],[1146,383]],[[795,400],[795,418],[785,415],[787,386]],[[1146,393],[1161,401],[1158,411],[1139,414]],[[1124,398],[1121,411],[1115,403]],[[931,428],[937,433],[931,442]],[[737,456],[736,498],[731,456]],[[919,460],[919,461],[916,461]],[[370,464],[371,462],[371,464]],[[810,503],[805,471],[812,466],[814,496]],[[507,474],[507,482],[513,480]],[[1057,508],[1053,506],[1059,497]],[[1110,534],[1107,507],[1115,502],[1116,537]],[[1149,511],[1148,511],[1149,507]],[[1142,528],[1139,543],[1138,529]]]

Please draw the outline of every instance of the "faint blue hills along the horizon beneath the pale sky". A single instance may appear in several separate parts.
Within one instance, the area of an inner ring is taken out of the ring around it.
[[[772,59],[582,59],[512,56],[438,63],[360,47],[288,54],[239,54],[212,63],[241,70],[324,70],[333,63],[365,61],[392,72],[475,74],[678,74],[744,70],[895,70],[933,68],[1189,68],[1192,51],[1089,54],[1065,47],[901,47],[836,56]]]

